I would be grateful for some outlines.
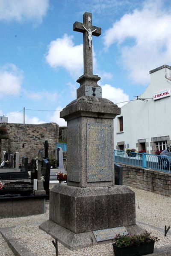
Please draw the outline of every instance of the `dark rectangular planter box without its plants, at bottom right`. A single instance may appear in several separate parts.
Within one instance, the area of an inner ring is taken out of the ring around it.
[[[127,247],[118,247],[115,244],[112,245],[115,256],[141,256],[153,253],[154,251],[154,241]]]

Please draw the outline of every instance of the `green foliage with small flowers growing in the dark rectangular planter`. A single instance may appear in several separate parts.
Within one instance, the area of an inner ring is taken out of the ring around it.
[[[127,246],[133,246],[133,245],[139,245],[143,243],[150,243],[152,241],[159,241],[157,237],[151,236],[151,233],[144,232],[141,235],[116,235],[114,244],[118,247],[127,247]]]

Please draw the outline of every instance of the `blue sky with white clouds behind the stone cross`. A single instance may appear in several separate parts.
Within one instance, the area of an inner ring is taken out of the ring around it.
[[[66,125],[59,110],[76,98],[83,74],[83,34],[73,24],[84,12],[102,28],[93,73],[103,98],[131,100],[149,84],[149,70],[171,65],[168,0],[0,0],[0,115],[9,122],[23,123],[25,107],[26,123]]]

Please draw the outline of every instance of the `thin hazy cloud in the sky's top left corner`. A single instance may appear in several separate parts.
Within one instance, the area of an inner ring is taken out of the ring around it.
[[[49,0],[0,0],[0,20],[33,20],[41,23]]]

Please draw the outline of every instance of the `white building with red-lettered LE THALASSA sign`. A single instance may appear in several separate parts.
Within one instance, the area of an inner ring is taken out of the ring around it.
[[[171,66],[150,70],[150,85],[114,120],[114,148],[154,154],[171,144]]]

